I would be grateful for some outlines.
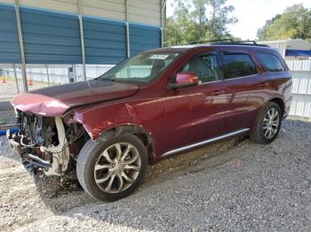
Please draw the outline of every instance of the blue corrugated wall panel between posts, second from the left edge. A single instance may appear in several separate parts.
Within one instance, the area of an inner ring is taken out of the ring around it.
[[[28,64],[79,64],[81,47],[76,15],[20,7]]]

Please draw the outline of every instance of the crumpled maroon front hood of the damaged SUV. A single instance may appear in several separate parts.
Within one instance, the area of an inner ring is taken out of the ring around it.
[[[22,112],[55,117],[71,107],[130,97],[139,89],[139,85],[129,83],[83,81],[19,94],[13,98],[12,105]]]

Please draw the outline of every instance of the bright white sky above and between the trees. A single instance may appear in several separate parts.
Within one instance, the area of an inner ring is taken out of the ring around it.
[[[173,0],[167,1],[168,17],[173,13],[172,3]],[[254,40],[259,27],[263,27],[268,19],[282,13],[292,4],[303,4],[311,8],[311,0],[227,0],[227,4],[235,7],[232,15],[239,20],[227,28],[232,35],[243,40]]]

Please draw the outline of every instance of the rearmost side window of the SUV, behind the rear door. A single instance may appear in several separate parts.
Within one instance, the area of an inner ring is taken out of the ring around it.
[[[259,62],[268,72],[282,72],[285,70],[280,60],[275,55],[263,52],[256,52]]]

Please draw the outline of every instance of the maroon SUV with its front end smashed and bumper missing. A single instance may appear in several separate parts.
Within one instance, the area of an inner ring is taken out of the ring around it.
[[[31,174],[76,168],[92,197],[126,197],[148,165],[182,151],[250,135],[270,143],[290,111],[291,74],[264,45],[190,45],[142,52],[91,81],[12,100],[8,133]]]

